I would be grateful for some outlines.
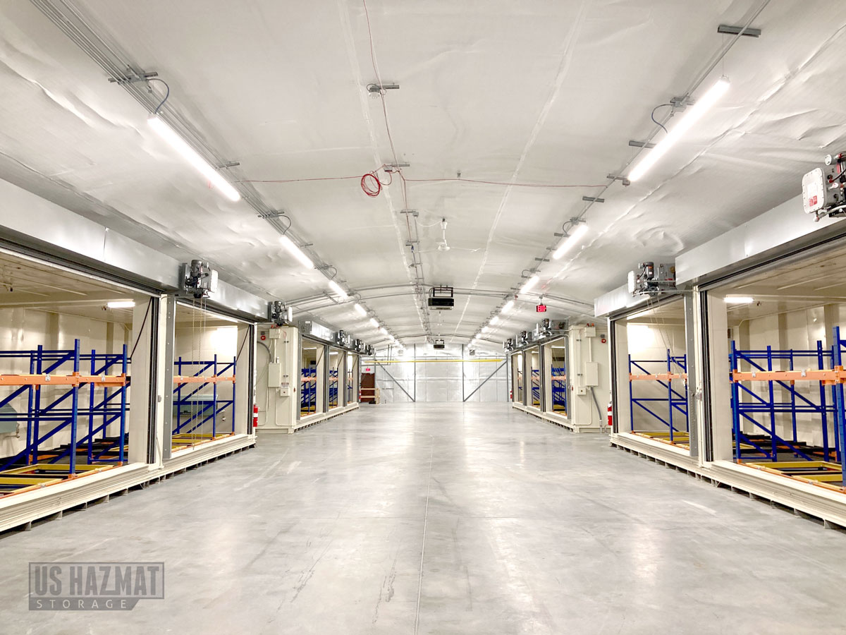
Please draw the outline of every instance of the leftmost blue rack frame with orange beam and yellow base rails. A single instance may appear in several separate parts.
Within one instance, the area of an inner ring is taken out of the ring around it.
[[[43,486],[90,473],[96,463],[122,465],[125,461],[126,414],[129,411],[129,357],[126,345],[120,353],[90,354],[80,351],[80,340],[72,350],[48,350],[43,345],[28,351],[0,351],[0,360],[29,362],[28,374],[0,375],[0,386],[16,388],[0,400],[0,407],[24,400],[25,412],[0,413],[0,421],[26,423],[25,448],[14,456],[0,459],[0,494],[29,489],[27,483]],[[89,374],[83,374],[86,367]],[[120,374],[114,373],[119,367]],[[58,389],[58,395],[45,403],[43,387]],[[98,391],[102,389],[102,398]],[[110,391],[113,389],[112,391]],[[87,394],[87,407],[80,396]],[[11,406],[9,406],[11,407]],[[88,433],[80,439],[80,424],[87,419]],[[44,424],[53,427],[41,433]],[[107,428],[118,422],[117,439],[107,439]],[[41,445],[63,430],[69,430],[69,443],[41,450]],[[102,439],[96,439],[102,434]],[[80,456],[82,454],[83,456]],[[108,455],[108,456],[107,456]],[[67,461],[67,462],[65,462]]]

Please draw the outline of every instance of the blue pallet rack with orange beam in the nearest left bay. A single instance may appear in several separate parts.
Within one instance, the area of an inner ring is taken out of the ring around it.
[[[96,381],[80,382],[65,388],[57,386],[58,391],[49,403],[45,403],[42,390],[37,385],[20,385],[10,395],[0,400],[0,407],[12,407],[25,399],[26,407],[11,413],[0,413],[2,422],[25,422],[26,444],[14,456],[0,459],[0,472],[12,467],[35,465],[41,459],[47,463],[63,463],[67,460],[69,473],[76,472],[80,451],[85,452],[85,460],[91,463],[117,462],[125,459],[126,414],[129,411],[129,357],[126,345],[120,353],[82,353],[80,340],[74,340],[72,350],[47,350],[43,345],[30,351],[0,351],[0,360],[25,360],[29,362],[30,375],[60,376],[71,373],[82,375],[90,371],[91,376],[104,378],[114,376],[119,368],[124,376],[121,385],[108,386]],[[47,385],[47,384],[44,384]],[[80,396],[88,396],[87,407],[80,405]],[[88,433],[80,439],[80,423],[88,422]],[[107,441],[108,426],[117,422],[118,438]],[[52,428],[41,433],[45,424],[52,423]],[[69,430],[70,440],[58,449],[42,450],[41,444],[52,439],[63,430]],[[97,435],[101,436],[98,441]],[[116,449],[116,453],[115,453]]]

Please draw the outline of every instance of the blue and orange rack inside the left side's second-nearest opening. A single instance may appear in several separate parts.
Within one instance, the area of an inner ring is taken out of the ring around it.
[[[233,357],[232,362],[221,362],[217,354],[211,360],[184,360],[181,356],[173,362],[175,373],[173,375],[173,410],[176,415],[176,426],[171,433],[172,441],[191,441],[191,436],[206,437],[207,440],[217,439],[217,416],[228,408],[231,409],[232,429],[226,434],[235,432],[235,364],[237,358]],[[185,374],[187,371],[190,374]],[[210,374],[206,374],[211,371]],[[226,374],[231,373],[231,374]],[[232,399],[218,399],[217,384],[223,382],[232,383]],[[190,386],[190,388],[186,388]],[[211,386],[211,400],[201,399],[201,390]],[[183,390],[187,389],[188,394],[184,395]],[[189,409],[190,417],[182,420],[182,409]],[[197,428],[202,428],[211,421],[211,437],[203,434],[194,434]],[[188,429],[184,429],[188,428]],[[193,444],[193,443],[190,443]]]

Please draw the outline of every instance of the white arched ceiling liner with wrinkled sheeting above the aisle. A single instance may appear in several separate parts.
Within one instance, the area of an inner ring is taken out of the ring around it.
[[[743,24],[758,5],[370,0],[382,80],[401,86],[387,109],[405,174],[605,184],[634,156],[629,139],[650,134],[651,109],[683,93],[722,46],[717,25]],[[168,81],[168,106],[240,162],[233,178],[360,176],[393,162],[381,102],[364,88],[376,77],[358,1],[74,6]],[[321,274],[297,268],[249,206],[208,190],[151,135],[143,108],[35,7],[0,4],[0,19],[0,177],[33,191],[51,179],[60,187],[50,196],[74,211],[174,257],[206,257],[267,297],[317,297],[302,306],[374,340],[349,304],[320,300]],[[613,185],[591,207],[584,250],[543,263],[549,315],[577,314],[554,298],[590,304],[645,253],[672,257],[795,196],[801,174],[846,149],[844,24],[830,3],[771,3],[753,23],[761,38],[741,38],[725,59],[732,88],[717,108],[641,181]],[[399,185],[377,198],[355,179],[255,187],[395,334],[422,333]],[[409,182],[426,283],[480,292],[432,315],[436,334],[474,334],[597,191]],[[442,217],[448,252],[436,249]],[[520,313],[492,339],[535,321]]]

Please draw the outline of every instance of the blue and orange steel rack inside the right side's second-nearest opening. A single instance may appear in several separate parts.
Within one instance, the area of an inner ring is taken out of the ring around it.
[[[662,373],[651,373],[645,366],[650,365],[654,370],[656,364],[661,364]],[[667,439],[671,444],[677,440],[687,441],[689,439],[688,420],[688,384],[687,384],[687,356],[672,355],[667,349],[667,357],[664,359],[632,359],[629,355],[629,417],[631,431],[634,429],[634,406],[638,406],[657,421],[662,422],[668,428]],[[649,381],[656,382],[667,391],[667,396],[661,397],[635,397],[634,382]],[[673,381],[684,382],[684,394],[673,388]],[[667,404],[667,418],[662,417],[653,408],[658,404]],[[677,428],[675,417],[684,417],[684,430]],[[678,439],[676,436],[678,435]],[[656,435],[663,437],[664,434]],[[658,439],[662,440],[662,439]]]

